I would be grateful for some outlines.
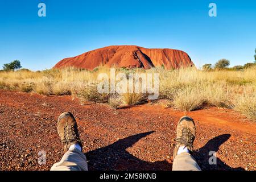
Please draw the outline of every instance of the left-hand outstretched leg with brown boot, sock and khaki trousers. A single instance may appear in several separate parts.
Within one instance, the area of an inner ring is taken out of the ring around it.
[[[86,157],[82,153],[77,123],[71,113],[63,113],[57,122],[57,131],[65,154],[60,162],[53,164],[51,171],[87,171]]]

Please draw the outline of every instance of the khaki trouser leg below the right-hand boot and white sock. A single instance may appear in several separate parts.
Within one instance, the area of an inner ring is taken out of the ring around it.
[[[192,155],[188,152],[182,152],[174,159],[172,171],[201,171],[201,168]]]

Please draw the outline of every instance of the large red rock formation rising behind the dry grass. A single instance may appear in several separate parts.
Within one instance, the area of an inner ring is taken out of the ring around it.
[[[163,65],[166,69],[177,69],[192,67],[194,64],[187,53],[176,49],[109,46],[65,58],[53,68],[76,67],[92,70],[101,65],[144,69]]]

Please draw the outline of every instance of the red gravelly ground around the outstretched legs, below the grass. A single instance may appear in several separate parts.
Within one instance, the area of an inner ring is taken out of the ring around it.
[[[71,111],[78,122],[89,170],[171,170],[176,124],[185,113],[146,104],[113,110],[81,105],[70,96],[46,97],[0,90],[0,169],[49,170],[61,159],[57,118]],[[217,108],[187,113],[195,119],[193,155],[204,170],[255,170],[255,121]],[[46,164],[38,152],[46,151]],[[209,151],[217,165],[209,165]]]

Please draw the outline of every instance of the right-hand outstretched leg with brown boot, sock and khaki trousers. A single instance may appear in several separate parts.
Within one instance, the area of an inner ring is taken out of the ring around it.
[[[174,163],[172,171],[201,171],[195,158],[189,151],[193,151],[196,127],[192,118],[182,117],[177,125],[176,145],[174,148]]]

